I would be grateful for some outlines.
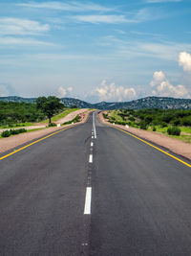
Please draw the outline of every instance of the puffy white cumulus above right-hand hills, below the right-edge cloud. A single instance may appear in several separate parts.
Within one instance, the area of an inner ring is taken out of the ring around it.
[[[153,87],[152,94],[161,97],[189,98],[189,92],[184,85],[172,85],[162,71],[156,71],[153,75],[153,81],[150,82]]]

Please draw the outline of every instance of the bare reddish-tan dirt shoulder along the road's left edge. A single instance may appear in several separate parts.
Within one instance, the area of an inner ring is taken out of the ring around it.
[[[42,128],[39,130],[35,130],[32,132],[26,132],[26,133],[21,133],[18,135],[14,135],[11,136],[9,138],[2,138],[0,139],[0,153],[4,152],[4,151],[10,151],[13,148],[16,148],[26,142],[30,142],[34,139],[38,139],[40,137],[43,137],[47,134],[50,134],[54,131],[63,129],[63,128],[70,128],[70,127],[74,127],[77,126],[79,124],[83,124],[87,121],[89,114],[91,113],[90,110],[85,109],[86,111],[83,111],[83,114],[81,113],[81,121],[78,123],[75,123],[74,125],[66,125],[66,126],[62,126],[60,128]],[[73,119],[70,119],[73,120]],[[69,121],[70,121],[69,120]]]

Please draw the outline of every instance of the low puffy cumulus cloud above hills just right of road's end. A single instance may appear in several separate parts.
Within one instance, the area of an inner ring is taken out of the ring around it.
[[[136,97],[135,88],[125,88],[123,86],[117,86],[115,82],[106,84],[106,81],[101,81],[99,87],[96,88],[96,96],[99,101],[127,101]]]

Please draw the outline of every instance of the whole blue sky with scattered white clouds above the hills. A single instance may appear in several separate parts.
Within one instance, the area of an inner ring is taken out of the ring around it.
[[[191,97],[191,1],[0,2],[0,96]]]

